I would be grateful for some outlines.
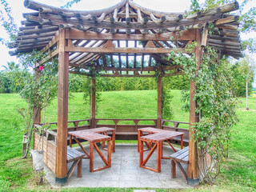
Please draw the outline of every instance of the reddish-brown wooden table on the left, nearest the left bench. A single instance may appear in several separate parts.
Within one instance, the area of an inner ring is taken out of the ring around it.
[[[107,136],[106,133],[108,131],[112,131],[112,139],[114,142],[114,129],[113,128],[96,128],[96,129],[90,129],[90,130],[75,130],[70,131],[70,147],[72,147],[72,138],[74,138],[75,142],[78,143],[78,145],[81,147],[83,152],[86,154],[86,158],[90,159],[90,172],[98,171],[98,170],[104,170],[106,168],[111,167],[111,150],[113,148],[111,147],[111,137]],[[100,134],[101,133],[101,134]],[[82,144],[78,141],[78,138],[82,138],[87,140],[90,143],[90,154],[87,153],[87,151],[83,148]],[[98,146],[96,145],[97,142],[107,142],[107,160],[102,154],[101,150],[98,149]],[[94,149],[98,152],[98,155],[102,158],[102,161],[106,164],[106,166],[98,167],[94,169]]]

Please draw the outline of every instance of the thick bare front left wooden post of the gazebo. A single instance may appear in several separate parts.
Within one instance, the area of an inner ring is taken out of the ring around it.
[[[69,53],[65,52],[66,30],[59,30],[58,53],[58,124],[57,124],[57,151],[56,151],[56,182],[67,182],[66,138],[68,115],[68,87],[69,87]]]

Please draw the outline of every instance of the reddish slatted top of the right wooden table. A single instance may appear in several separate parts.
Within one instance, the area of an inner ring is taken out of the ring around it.
[[[148,135],[140,137],[141,141],[146,142],[163,142],[167,139],[181,136],[184,133],[172,130],[160,130],[152,127],[146,127],[139,129],[140,131],[150,133]]]

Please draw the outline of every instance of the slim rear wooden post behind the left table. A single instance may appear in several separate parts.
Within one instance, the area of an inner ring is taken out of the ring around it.
[[[90,83],[90,128],[96,128],[96,79],[91,78]]]

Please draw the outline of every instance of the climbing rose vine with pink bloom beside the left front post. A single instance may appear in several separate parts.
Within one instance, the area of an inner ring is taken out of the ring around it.
[[[30,54],[20,55],[22,65],[28,68],[34,68],[34,63],[41,61],[46,55],[38,51],[33,51]],[[18,113],[22,115],[26,124],[23,135],[23,158],[26,158],[30,150],[30,142],[34,130],[35,114],[53,101],[57,96],[58,90],[58,62],[52,60],[44,66],[39,66],[35,70],[38,71],[38,76],[26,75],[23,79],[24,87],[20,92],[20,96],[26,102],[26,107],[18,107]],[[44,115],[45,117],[45,110]]]

